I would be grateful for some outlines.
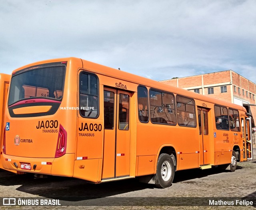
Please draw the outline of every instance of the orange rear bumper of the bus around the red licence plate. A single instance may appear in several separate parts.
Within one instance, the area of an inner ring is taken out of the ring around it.
[[[3,168],[20,172],[47,174],[56,176],[73,176],[75,154],[64,154],[59,158],[26,158],[11,155],[2,156]],[[21,167],[26,164],[27,170]]]

